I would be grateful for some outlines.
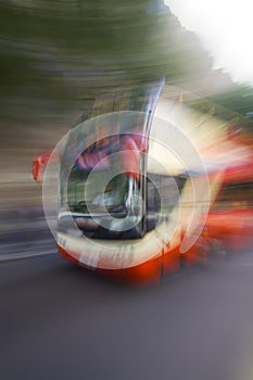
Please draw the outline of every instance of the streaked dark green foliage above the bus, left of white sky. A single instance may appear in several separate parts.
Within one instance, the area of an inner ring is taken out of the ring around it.
[[[207,75],[208,55],[162,0],[3,0],[1,113],[27,122],[165,75]],[[74,105],[75,104],[75,105]]]

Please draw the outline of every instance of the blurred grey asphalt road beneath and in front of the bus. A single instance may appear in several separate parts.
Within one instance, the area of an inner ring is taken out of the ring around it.
[[[253,252],[119,286],[56,253],[0,265],[3,380],[252,380]]]

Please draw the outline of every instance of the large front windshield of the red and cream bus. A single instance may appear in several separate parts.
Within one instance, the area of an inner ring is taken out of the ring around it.
[[[59,229],[67,229],[72,218],[84,235],[94,239],[143,237],[141,142],[132,134],[109,136],[77,156],[68,178],[62,165]]]

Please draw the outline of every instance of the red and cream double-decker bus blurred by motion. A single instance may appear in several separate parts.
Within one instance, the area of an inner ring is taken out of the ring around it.
[[[181,157],[192,159],[194,147],[175,126],[138,111],[91,117],[60,145],[35,160],[34,178],[47,165],[43,186],[51,186],[58,160],[55,240],[78,266],[159,282],[182,265],[208,262],[211,251],[250,246],[251,152],[220,166],[195,154],[186,167]]]

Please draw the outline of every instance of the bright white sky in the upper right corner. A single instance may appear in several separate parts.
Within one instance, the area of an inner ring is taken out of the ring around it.
[[[164,0],[235,81],[253,86],[253,0]]]

